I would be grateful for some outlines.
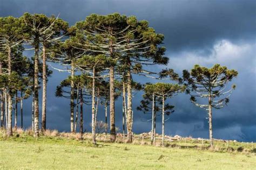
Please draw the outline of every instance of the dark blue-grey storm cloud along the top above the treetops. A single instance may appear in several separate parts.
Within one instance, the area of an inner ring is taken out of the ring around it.
[[[246,39],[256,35],[255,1],[10,1],[1,0],[0,15],[21,16],[24,12],[58,15],[71,25],[91,13],[119,12],[149,20],[164,33],[170,51],[207,48],[214,41]]]

